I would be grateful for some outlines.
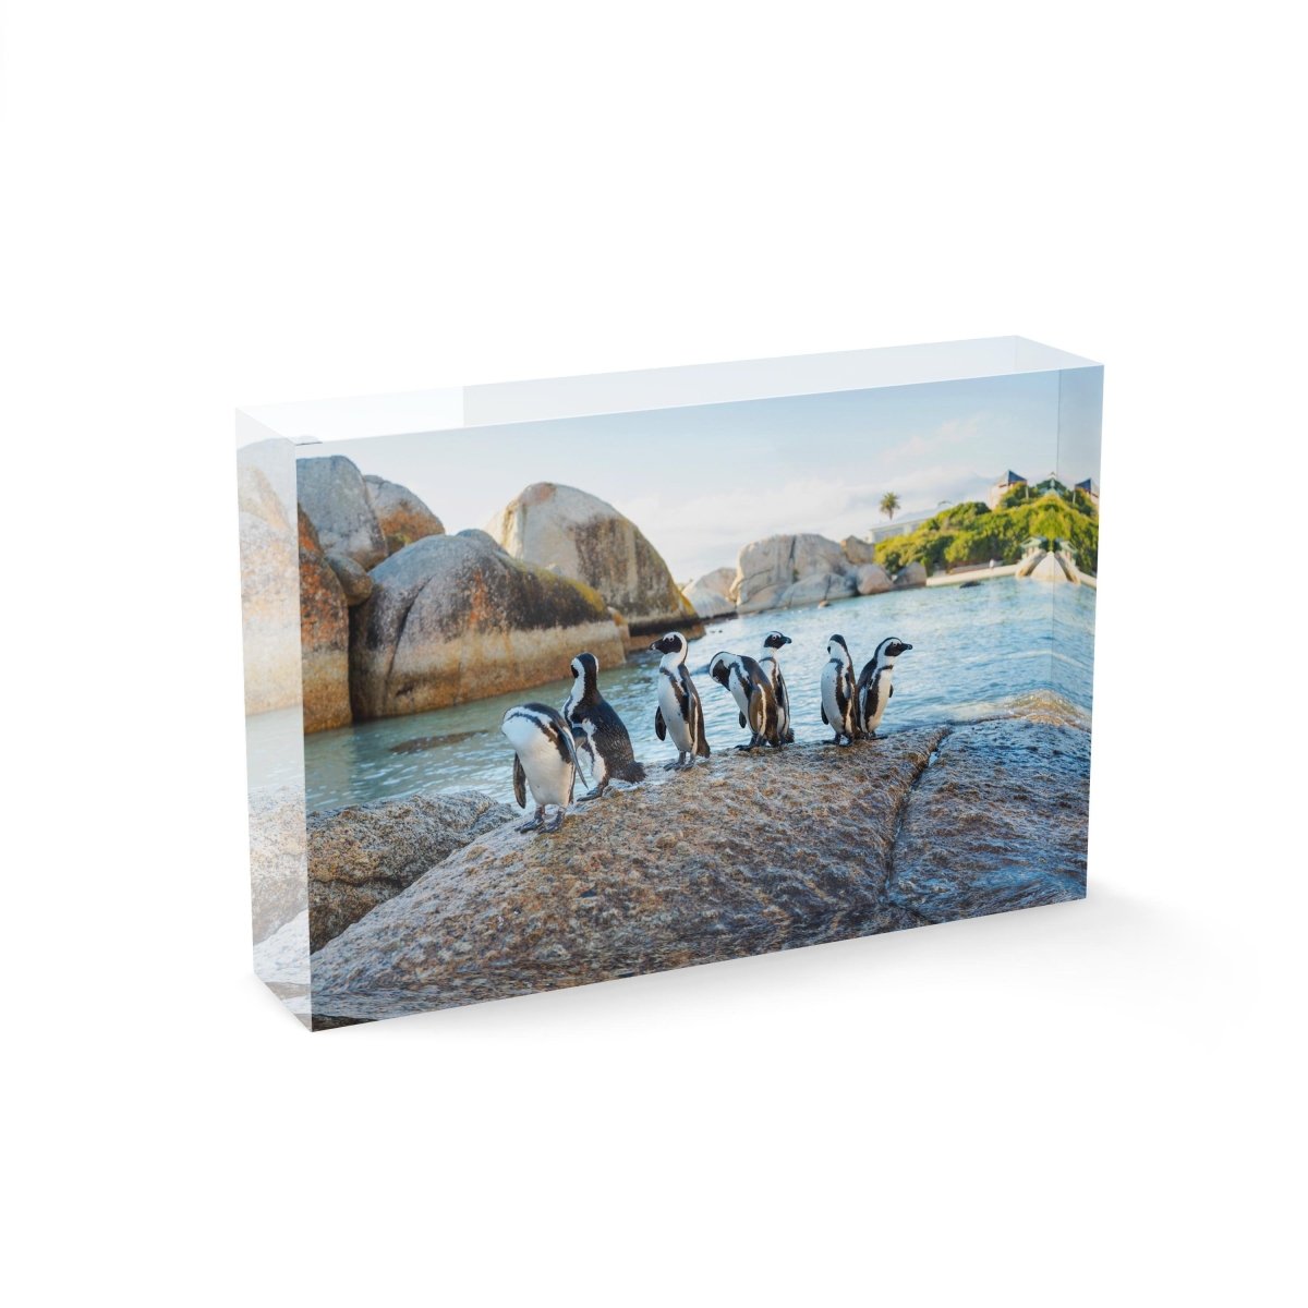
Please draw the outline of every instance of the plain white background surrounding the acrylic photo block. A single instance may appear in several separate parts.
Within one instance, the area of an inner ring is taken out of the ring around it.
[[[5,7],[14,1301],[1296,1298],[1291,13]],[[1108,368],[1086,904],[260,990],[235,404],[1005,332]]]

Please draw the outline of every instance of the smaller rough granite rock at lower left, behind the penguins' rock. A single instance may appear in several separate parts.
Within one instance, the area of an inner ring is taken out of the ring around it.
[[[310,814],[310,947],[322,948],[454,850],[514,818],[517,808],[477,790]]]

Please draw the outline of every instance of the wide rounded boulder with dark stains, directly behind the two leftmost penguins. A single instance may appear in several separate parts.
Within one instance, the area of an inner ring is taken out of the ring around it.
[[[354,714],[385,718],[568,678],[590,650],[624,661],[603,598],[471,536],[426,536],[373,569],[351,611]]]

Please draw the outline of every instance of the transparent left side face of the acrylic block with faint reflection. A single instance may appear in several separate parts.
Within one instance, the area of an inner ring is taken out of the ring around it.
[[[252,437],[252,438],[251,438]],[[300,544],[290,441],[238,424],[250,906],[259,978],[307,1024]]]

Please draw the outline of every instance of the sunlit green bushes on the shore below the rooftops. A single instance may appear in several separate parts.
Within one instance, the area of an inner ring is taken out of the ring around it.
[[[1050,548],[1070,542],[1076,566],[1099,572],[1099,511],[1090,498],[1080,490],[1025,485],[1010,490],[995,509],[976,501],[942,509],[906,536],[883,540],[876,561],[892,573],[912,562],[929,573],[963,564],[984,568],[991,559],[1015,564],[1032,536],[1042,536]]]

